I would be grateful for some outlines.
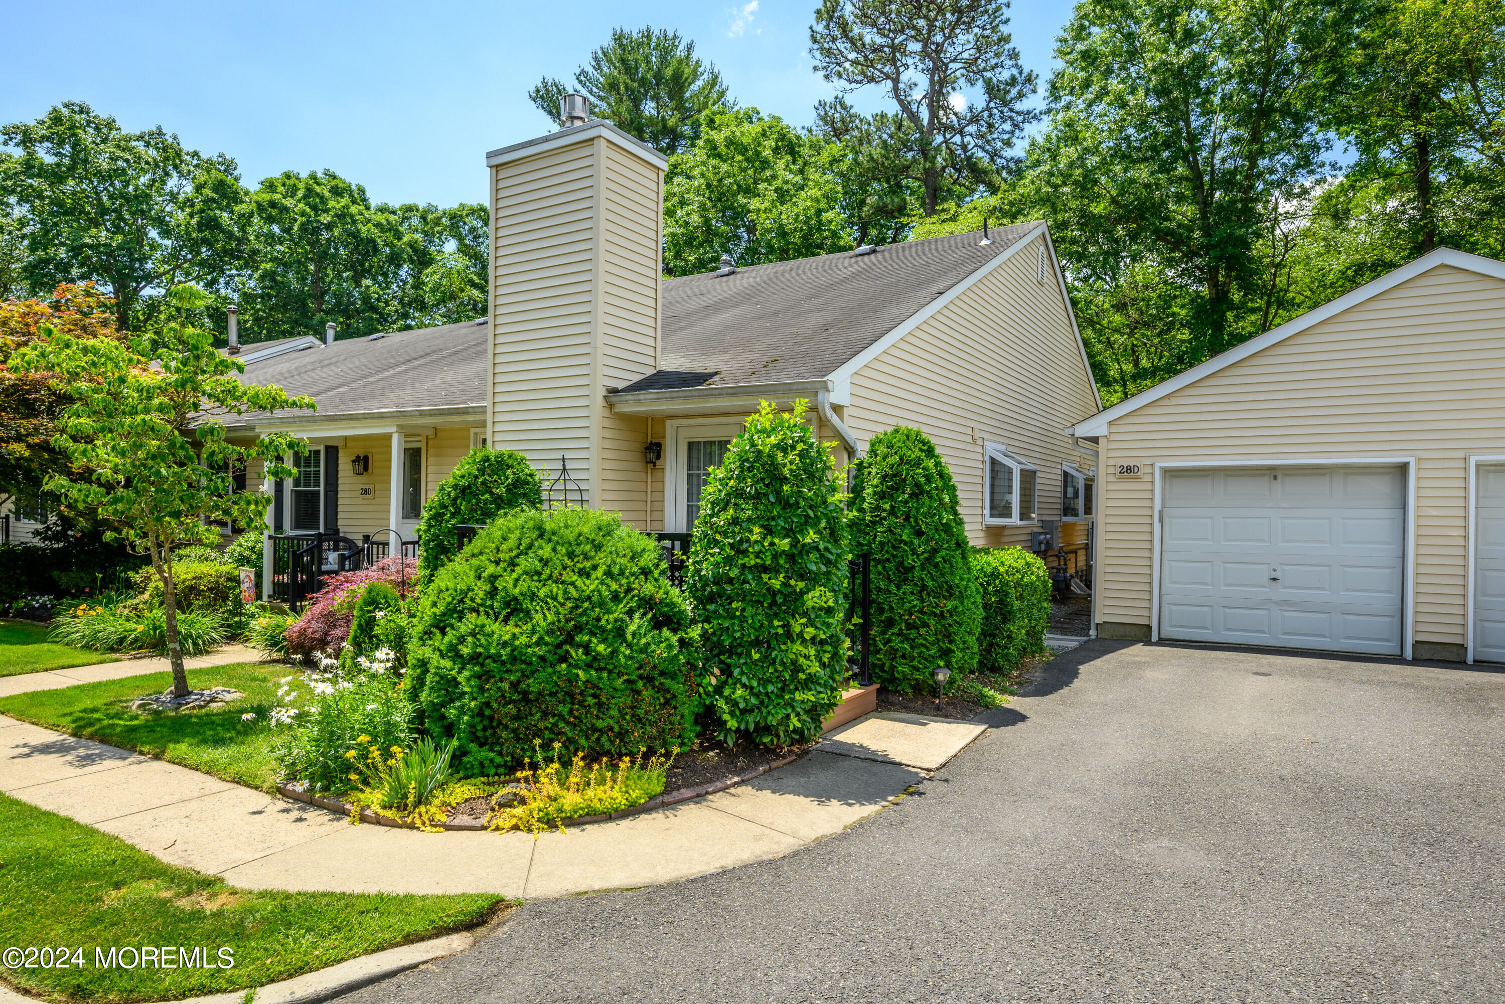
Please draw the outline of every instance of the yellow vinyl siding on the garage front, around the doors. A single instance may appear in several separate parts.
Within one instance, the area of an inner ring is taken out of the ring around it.
[[[1114,420],[1105,465],[1416,458],[1415,640],[1463,644],[1467,456],[1505,452],[1502,328],[1505,281],[1439,265]],[[1103,488],[1099,620],[1148,625],[1153,479]]]

